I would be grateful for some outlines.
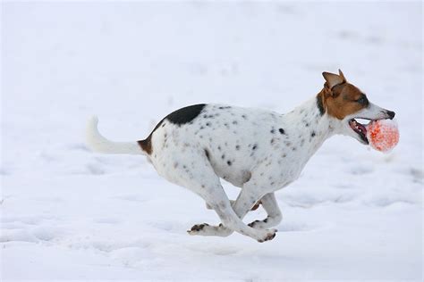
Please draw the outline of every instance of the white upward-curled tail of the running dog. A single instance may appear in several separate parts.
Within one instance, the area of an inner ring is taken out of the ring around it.
[[[86,142],[89,149],[98,153],[146,154],[136,141],[113,142],[103,137],[98,132],[98,117],[96,116],[89,118],[87,123]]]

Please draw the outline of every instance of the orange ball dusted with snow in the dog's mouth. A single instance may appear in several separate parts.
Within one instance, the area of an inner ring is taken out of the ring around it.
[[[369,145],[380,152],[389,152],[399,142],[399,130],[394,120],[376,120],[367,126]]]

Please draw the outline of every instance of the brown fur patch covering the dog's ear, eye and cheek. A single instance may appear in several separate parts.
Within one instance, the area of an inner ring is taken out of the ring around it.
[[[338,75],[329,72],[323,72],[322,75],[326,83],[319,95],[329,115],[343,120],[368,106],[367,96],[358,87],[347,82],[342,71],[339,70]]]

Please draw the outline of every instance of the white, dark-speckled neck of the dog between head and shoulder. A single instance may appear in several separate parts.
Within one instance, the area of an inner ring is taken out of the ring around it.
[[[284,123],[294,134],[291,139],[302,146],[305,162],[340,129],[340,120],[328,115],[324,108],[323,91],[284,115]]]

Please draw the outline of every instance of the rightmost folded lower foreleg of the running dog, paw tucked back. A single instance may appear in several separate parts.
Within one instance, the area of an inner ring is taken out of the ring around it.
[[[255,220],[250,222],[249,226],[260,229],[277,226],[281,220],[283,220],[283,215],[278,208],[278,203],[276,203],[276,195],[274,195],[274,193],[268,193],[260,199],[260,202],[262,203],[265,211],[267,211],[267,218],[265,220]]]

